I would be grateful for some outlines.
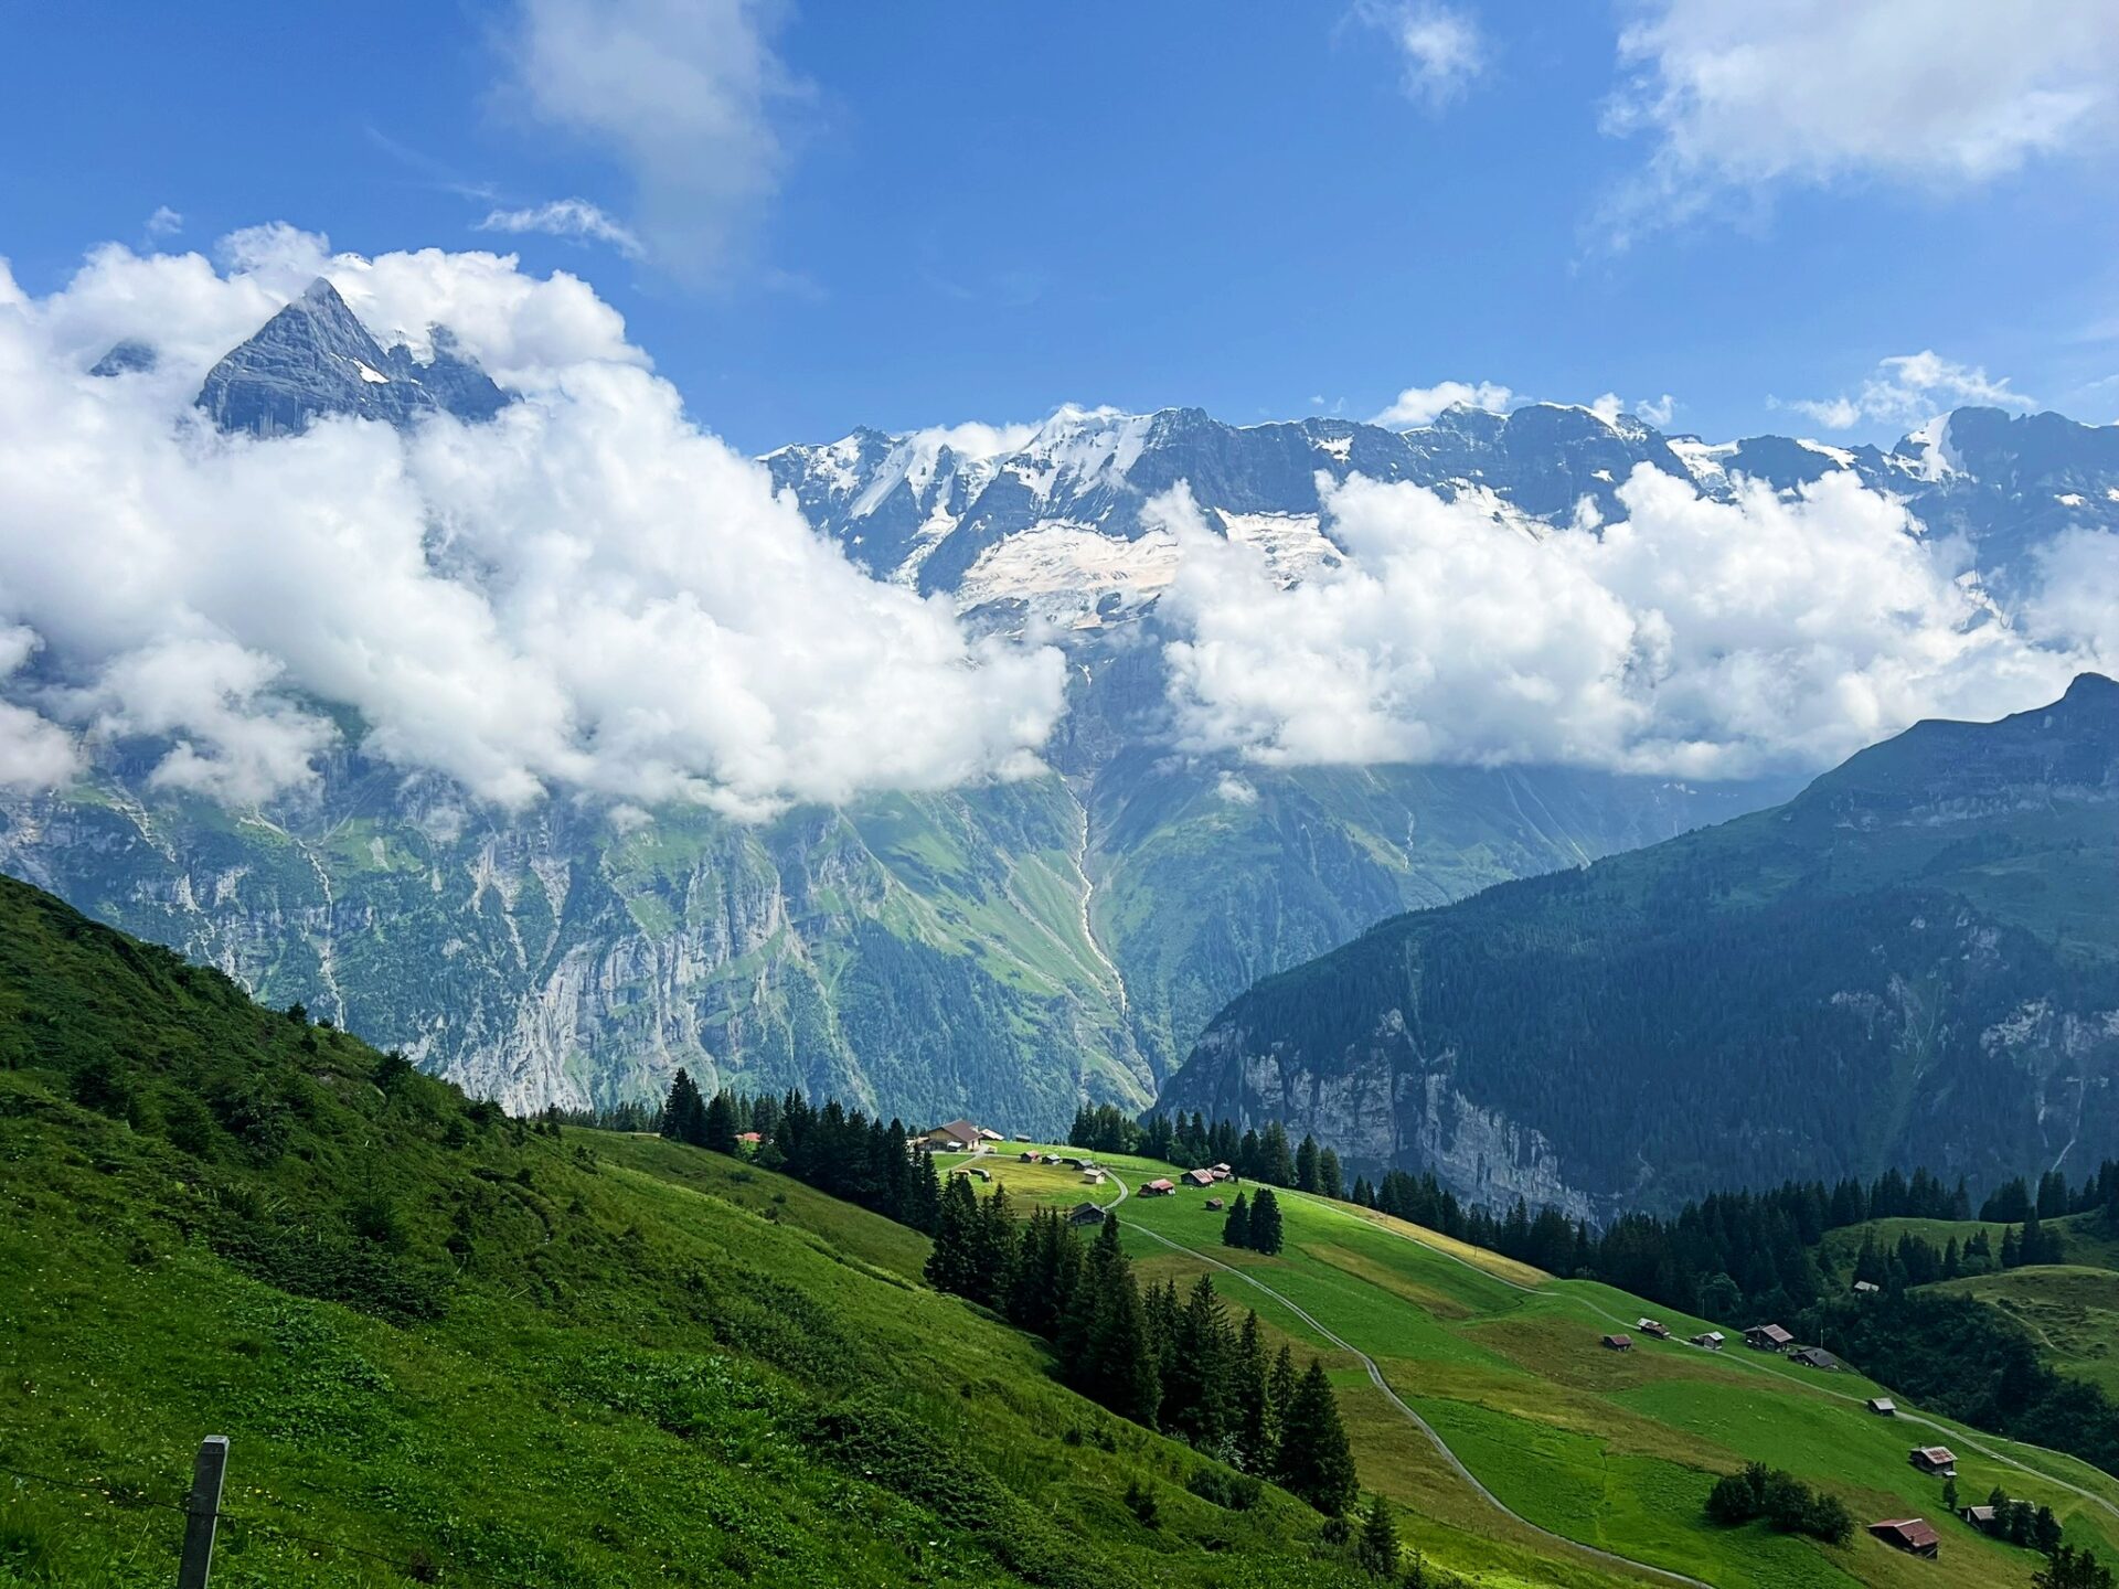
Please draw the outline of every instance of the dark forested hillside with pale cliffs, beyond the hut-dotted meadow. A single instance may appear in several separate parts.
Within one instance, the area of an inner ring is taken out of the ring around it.
[[[1924,722],[1782,807],[1386,922],[1161,1108],[1568,1212],[2119,1146],[2119,686]],[[1623,1085],[1617,1083],[1623,1078]]]

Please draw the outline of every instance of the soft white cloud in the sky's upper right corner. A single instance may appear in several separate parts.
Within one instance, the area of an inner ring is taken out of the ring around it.
[[[1606,131],[1649,142],[1613,239],[1727,195],[1958,189],[2119,131],[2111,0],[1634,0]]]

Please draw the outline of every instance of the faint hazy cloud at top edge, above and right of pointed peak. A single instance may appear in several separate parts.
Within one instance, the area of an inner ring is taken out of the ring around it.
[[[780,189],[780,121],[809,97],[771,47],[784,17],[776,0],[519,0],[509,97],[615,157],[627,231],[712,280]]]

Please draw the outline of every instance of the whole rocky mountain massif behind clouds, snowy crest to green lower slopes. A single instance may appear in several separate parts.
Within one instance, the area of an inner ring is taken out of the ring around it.
[[[318,415],[477,424],[511,400],[445,326],[422,345],[384,347],[320,282],[214,367],[199,405],[273,445]],[[155,358],[125,345],[95,369]],[[566,799],[511,814],[362,754],[341,710],[316,786],[254,811],[157,786],[163,746],[97,744],[72,788],[0,792],[0,869],[513,1110],[655,1100],[687,1066],[714,1087],[1060,1131],[1083,1102],[1140,1110],[1229,998],[1379,920],[1795,788],[1191,754],[1168,708],[1157,492],[1187,483],[1210,528],[1303,578],[1343,555],[1320,479],[1475,494],[1496,534],[1545,534],[1583,498],[1617,513],[1638,466],[1714,498],[1852,470],[2007,589],[2060,528],[2119,530],[2113,443],[1966,409],[1888,451],[1708,445],[1560,405],[1407,432],[1197,409],[1064,409],[977,447],[860,430],[761,466],[875,578],[983,633],[1057,636],[1070,689],[1047,773],[756,824],[619,822]]]

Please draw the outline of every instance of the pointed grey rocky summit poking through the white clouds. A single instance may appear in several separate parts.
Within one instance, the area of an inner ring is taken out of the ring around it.
[[[422,413],[492,419],[509,396],[437,326],[434,358],[384,347],[322,275],[206,373],[199,407],[222,430],[299,434],[345,413],[409,426]]]

